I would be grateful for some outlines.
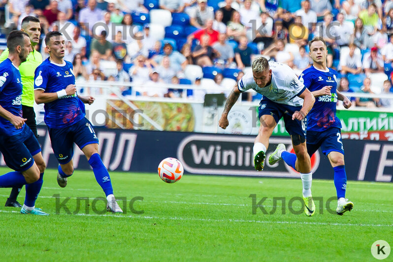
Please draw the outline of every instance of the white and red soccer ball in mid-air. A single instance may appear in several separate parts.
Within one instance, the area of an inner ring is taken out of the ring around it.
[[[158,174],[166,183],[175,183],[182,178],[183,165],[175,158],[165,158],[158,165]]]

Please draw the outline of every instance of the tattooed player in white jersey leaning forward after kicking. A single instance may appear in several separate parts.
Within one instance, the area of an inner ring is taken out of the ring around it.
[[[263,170],[269,138],[278,121],[284,118],[285,129],[291,135],[297,157],[296,168],[300,171],[303,192],[310,191],[312,174],[311,161],[306,148],[306,116],[313,107],[314,96],[298,80],[291,67],[268,62],[264,57],[259,57],[253,61],[252,73],[245,74],[230,92],[219,121],[221,128],[228,127],[230,109],[240,94],[249,89],[263,96],[259,107],[261,126],[253,148],[255,169]]]

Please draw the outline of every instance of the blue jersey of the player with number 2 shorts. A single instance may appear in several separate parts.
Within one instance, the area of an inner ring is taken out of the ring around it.
[[[328,68],[324,72],[311,66],[305,69],[299,80],[310,92],[331,86],[330,95],[315,98],[315,103],[307,115],[307,131],[325,131],[331,127],[341,128],[341,122],[336,116],[337,105],[337,72]]]

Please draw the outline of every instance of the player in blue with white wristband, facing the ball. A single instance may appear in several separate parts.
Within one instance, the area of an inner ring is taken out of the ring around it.
[[[123,213],[113,195],[108,170],[98,154],[98,138],[85,117],[83,103],[92,104],[93,97],[76,93],[72,64],[64,60],[65,40],[60,32],[46,34],[46,49],[50,57],[35,70],[34,95],[37,104],[45,103],[44,121],[48,127],[53,152],[59,162],[57,182],[66,187],[73,172],[73,144],[85,154],[98,184],[107,198],[107,210]]]

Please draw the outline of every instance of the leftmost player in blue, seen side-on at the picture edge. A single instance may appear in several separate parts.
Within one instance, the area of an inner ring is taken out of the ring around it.
[[[18,66],[32,52],[29,35],[12,31],[7,48],[8,57],[0,64],[0,152],[7,166],[15,171],[0,176],[0,187],[26,185],[21,213],[48,215],[35,208],[46,166],[38,141],[22,117],[22,78]]]

